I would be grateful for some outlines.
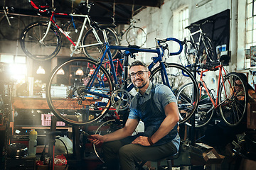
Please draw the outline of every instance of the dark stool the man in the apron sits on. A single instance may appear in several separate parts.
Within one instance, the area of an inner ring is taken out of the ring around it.
[[[164,159],[160,159],[157,161],[157,170],[161,170],[161,169],[166,169],[164,168],[163,166],[161,166],[161,161],[162,160],[166,160],[167,162],[167,169],[168,170],[171,170],[172,168],[172,165],[174,164],[174,159],[177,159],[179,157],[179,152],[177,152],[176,154],[172,154],[170,155],[169,157],[166,157]],[[137,164],[137,167],[138,167],[138,170],[144,170],[144,167],[143,165],[145,164],[146,162],[142,162],[140,164]]]

